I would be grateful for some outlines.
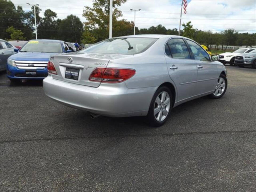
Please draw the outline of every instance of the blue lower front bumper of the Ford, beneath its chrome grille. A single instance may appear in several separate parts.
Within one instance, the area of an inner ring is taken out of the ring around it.
[[[42,70],[24,70],[8,64],[6,71],[9,79],[44,79],[48,74],[47,68]],[[26,75],[26,71],[35,71],[37,75]]]

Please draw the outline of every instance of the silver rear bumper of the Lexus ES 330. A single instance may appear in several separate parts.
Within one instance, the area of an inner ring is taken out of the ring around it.
[[[43,80],[45,94],[63,105],[110,117],[147,115],[157,87],[128,89],[125,83],[101,83],[99,87],[53,79]]]

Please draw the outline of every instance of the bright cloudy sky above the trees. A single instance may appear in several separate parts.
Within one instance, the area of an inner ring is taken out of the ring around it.
[[[51,9],[57,17],[64,19],[69,14],[76,15],[82,22],[83,7],[92,7],[92,0],[11,0],[15,6],[22,6],[23,10],[30,10],[26,3],[38,3],[42,9]],[[139,29],[149,28],[161,24],[167,29],[179,28],[179,18],[182,0],[127,0],[118,7],[127,21],[134,21]],[[191,21],[193,28],[220,32],[227,28],[234,28],[239,33],[256,33],[256,1],[255,0],[187,0],[187,14],[182,12],[182,23]],[[183,27],[181,27],[182,29]]]

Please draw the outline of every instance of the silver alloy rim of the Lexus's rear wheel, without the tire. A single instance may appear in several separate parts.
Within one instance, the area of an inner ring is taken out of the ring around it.
[[[170,95],[166,91],[159,93],[155,99],[154,116],[157,121],[163,121],[170,111]]]

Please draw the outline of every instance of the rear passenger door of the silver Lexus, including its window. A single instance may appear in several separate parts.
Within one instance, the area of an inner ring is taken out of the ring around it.
[[[183,101],[197,95],[197,66],[191,59],[183,38],[171,38],[165,45],[165,59],[170,78],[178,91],[177,101]]]

